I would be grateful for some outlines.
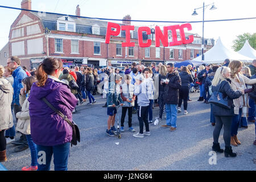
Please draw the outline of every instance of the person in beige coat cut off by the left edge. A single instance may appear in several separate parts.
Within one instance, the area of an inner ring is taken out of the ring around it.
[[[13,101],[13,86],[3,78],[5,68],[0,65],[0,162],[6,162],[5,130],[13,127],[11,102]]]

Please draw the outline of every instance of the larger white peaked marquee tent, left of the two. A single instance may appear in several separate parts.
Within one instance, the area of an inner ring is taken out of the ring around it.
[[[241,60],[244,62],[251,62],[253,59],[247,56],[243,56],[240,53],[237,53],[235,51],[232,51],[228,48],[226,48],[222,42],[221,39],[218,38],[216,44],[209,49],[209,51],[204,53],[204,63],[223,63],[225,59],[230,60]],[[202,61],[202,55],[196,57],[192,61]]]

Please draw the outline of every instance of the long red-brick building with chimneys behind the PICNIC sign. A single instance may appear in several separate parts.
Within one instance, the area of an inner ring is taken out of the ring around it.
[[[31,0],[23,0],[22,9],[31,10]],[[80,16],[79,5],[76,15]],[[123,17],[122,24],[130,24],[130,15]],[[120,25],[122,25],[120,24]],[[21,11],[11,25],[9,34],[10,55],[18,56],[22,65],[28,68],[38,67],[47,57],[58,57],[65,65],[94,65],[94,67],[115,67],[123,64],[168,63],[193,59],[201,55],[201,37],[193,34],[194,42],[172,47],[155,47],[154,34],[143,35],[143,39],[151,39],[151,47],[138,46],[138,28],[131,31],[131,42],[135,47],[122,47],[125,42],[125,31],[112,36],[110,43],[105,43],[108,22],[55,14],[41,14]],[[179,32],[177,32],[179,40]],[[192,34],[185,33],[185,36]],[[168,37],[171,42],[171,34]],[[213,39],[205,39],[204,50],[214,45]]]

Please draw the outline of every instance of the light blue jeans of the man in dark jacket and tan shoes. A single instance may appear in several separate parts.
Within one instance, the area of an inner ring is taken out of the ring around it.
[[[166,125],[177,127],[177,105],[166,104]]]

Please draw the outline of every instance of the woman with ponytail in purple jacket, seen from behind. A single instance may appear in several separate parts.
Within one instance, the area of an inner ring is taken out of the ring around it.
[[[52,154],[55,171],[68,169],[72,127],[42,100],[45,97],[72,121],[72,110],[75,109],[77,99],[69,86],[58,79],[62,68],[60,59],[44,59],[36,71],[38,82],[32,85],[28,98],[31,137],[38,151],[38,171],[49,171]]]

